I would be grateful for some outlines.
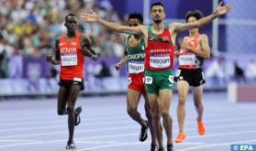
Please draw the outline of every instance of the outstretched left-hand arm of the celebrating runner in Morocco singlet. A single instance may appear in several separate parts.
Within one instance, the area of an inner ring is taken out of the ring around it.
[[[99,18],[96,13],[90,9],[90,11],[92,12],[92,14],[85,14],[82,13],[81,18],[84,21],[88,21],[88,22],[97,22],[99,24],[101,24],[102,26],[108,27],[112,30],[115,30],[119,33],[128,33],[128,34],[133,34],[133,35],[143,35],[143,32],[141,30],[141,27],[127,27],[127,26],[120,26],[118,24],[106,21],[104,19]]]

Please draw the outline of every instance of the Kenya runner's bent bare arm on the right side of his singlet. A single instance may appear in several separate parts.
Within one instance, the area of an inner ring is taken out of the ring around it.
[[[95,49],[93,49],[92,41],[86,35],[82,35],[80,37],[80,46],[82,47],[82,53],[84,56],[87,56],[91,59],[97,60],[98,56],[95,53]]]

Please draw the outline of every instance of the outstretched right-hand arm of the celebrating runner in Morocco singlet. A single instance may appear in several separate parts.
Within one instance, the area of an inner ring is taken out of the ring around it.
[[[223,6],[221,5],[222,5],[222,2],[220,2],[219,5],[217,5],[217,9],[214,14],[203,17],[202,19],[199,19],[194,23],[186,23],[186,24],[172,23],[169,25],[169,27],[173,28],[174,32],[189,30],[192,28],[204,27],[206,24],[208,24],[213,19],[215,19],[217,16],[225,15],[232,9],[232,5],[223,5]]]

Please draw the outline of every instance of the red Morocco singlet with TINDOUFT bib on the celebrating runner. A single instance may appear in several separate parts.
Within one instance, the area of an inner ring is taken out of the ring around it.
[[[148,48],[146,48],[145,69],[169,70],[173,68],[174,45],[168,25],[160,35],[152,33],[152,27],[148,29]]]

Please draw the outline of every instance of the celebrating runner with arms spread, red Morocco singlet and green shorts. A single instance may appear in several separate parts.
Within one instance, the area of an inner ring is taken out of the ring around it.
[[[161,117],[165,133],[167,135],[167,151],[173,151],[173,120],[169,114],[169,108],[173,96],[173,44],[179,31],[189,30],[192,28],[203,27],[217,16],[227,14],[232,8],[232,5],[221,6],[222,2],[217,5],[217,10],[210,16],[206,16],[193,23],[172,23],[167,26],[163,24],[164,6],[161,2],[156,2],[151,5],[150,18],[153,20],[153,26],[139,26],[139,27],[124,27],[112,22],[108,22],[99,18],[94,11],[92,14],[82,14],[81,17],[85,21],[97,22],[105,27],[109,27],[120,33],[128,33],[134,35],[141,35],[145,41],[145,84],[150,101],[150,107],[153,117],[153,129],[158,140],[159,151],[163,151],[163,142],[161,134]],[[169,36],[166,28],[169,30]],[[167,37],[167,38],[166,38]],[[156,46],[150,40],[159,42]],[[148,42],[149,41],[149,42]],[[148,49],[149,47],[149,49]],[[153,49],[151,49],[153,48]],[[160,48],[160,49],[158,49]],[[150,52],[148,52],[150,51]],[[156,52],[156,54],[154,54]],[[158,54],[164,52],[164,54]],[[169,52],[169,53],[167,53]],[[150,56],[149,56],[150,55]],[[149,67],[149,68],[148,68]],[[153,70],[154,69],[154,70]],[[159,98],[159,99],[158,99]]]

